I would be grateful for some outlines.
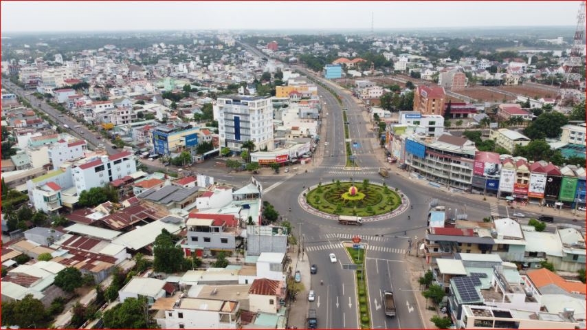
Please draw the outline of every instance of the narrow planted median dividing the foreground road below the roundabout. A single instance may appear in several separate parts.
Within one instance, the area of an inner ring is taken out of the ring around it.
[[[359,241],[357,241],[359,242]],[[355,278],[357,279],[357,286],[355,292],[357,292],[357,311],[359,313],[359,324],[361,329],[371,329],[370,316],[369,316],[369,296],[367,290],[367,278],[364,274],[364,261],[365,261],[365,245],[352,242],[343,242],[344,248],[348,257],[353,261],[355,265]]]

